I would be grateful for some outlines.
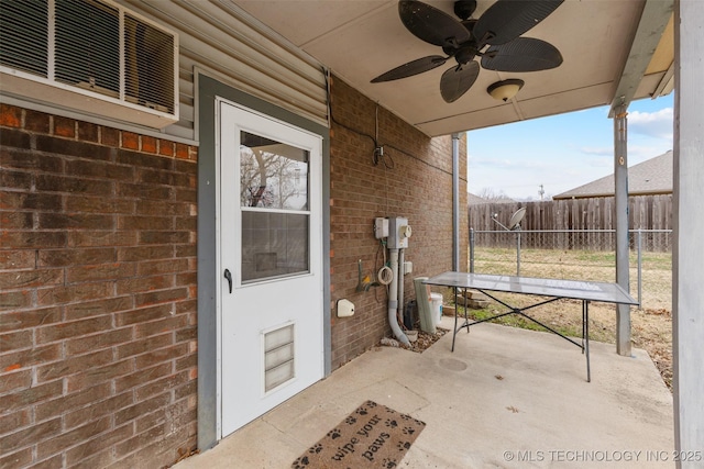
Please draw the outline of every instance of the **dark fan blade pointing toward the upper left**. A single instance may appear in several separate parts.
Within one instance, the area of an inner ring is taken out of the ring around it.
[[[452,38],[460,44],[472,37],[466,27],[453,16],[417,0],[400,0],[398,15],[416,37],[437,46],[442,47]]]

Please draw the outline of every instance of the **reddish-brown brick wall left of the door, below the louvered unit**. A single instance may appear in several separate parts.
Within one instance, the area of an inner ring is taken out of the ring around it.
[[[196,446],[197,148],[0,114],[0,468]]]

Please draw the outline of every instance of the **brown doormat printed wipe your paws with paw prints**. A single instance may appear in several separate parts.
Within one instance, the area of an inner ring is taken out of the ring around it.
[[[426,423],[366,401],[292,465],[293,469],[393,469]]]

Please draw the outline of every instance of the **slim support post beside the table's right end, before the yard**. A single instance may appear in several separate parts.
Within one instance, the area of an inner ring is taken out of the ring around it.
[[[616,283],[630,291],[628,272],[628,121],[625,107],[614,115],[614,182],[616,188]],[[616,353],[630,356],[630,306],[616,305]]]

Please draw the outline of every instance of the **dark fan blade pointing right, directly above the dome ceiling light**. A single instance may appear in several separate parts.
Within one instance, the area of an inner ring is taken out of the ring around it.
[[[556,46],[532,37],[518,37],[491,46],[482,57],[482,67],[497,71],[538,71],[559,67],[562,54]]]

